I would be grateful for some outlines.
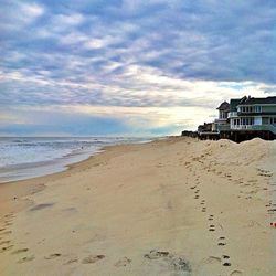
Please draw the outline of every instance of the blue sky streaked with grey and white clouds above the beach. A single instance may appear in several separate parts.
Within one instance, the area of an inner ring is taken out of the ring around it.
[[[163,136],[276,95],[275,0],[0,0],[0,136]]]

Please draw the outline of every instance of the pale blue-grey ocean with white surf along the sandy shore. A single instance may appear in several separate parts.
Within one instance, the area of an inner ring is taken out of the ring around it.
[[[148,142],[131,137],[0,137],[0,183],[66,170],[103,147]]]

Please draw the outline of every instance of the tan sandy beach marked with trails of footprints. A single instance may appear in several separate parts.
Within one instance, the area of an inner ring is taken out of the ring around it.
[[[0,184],[0,275],[275,275],[275,158],[170,138]]]

